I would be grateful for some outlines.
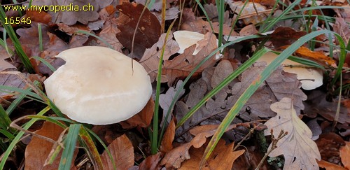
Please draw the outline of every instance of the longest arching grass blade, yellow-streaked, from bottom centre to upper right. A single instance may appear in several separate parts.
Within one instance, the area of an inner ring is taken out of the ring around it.
[[[262,82],[264,82],[266,80],[266,78],[268,78],[269,75],[274,70],[276,70],[277,67],[279,65],[281,65],[281,63],[286,58],[288,58],[290,55],[292,55],[293,52],[295,52],[295,50],[300,48],[301,45],[303,45],[304,43],[306,43],[307,41],[311,40],[312,38],[314,38],[314,37],[316,37],[318,35],[328,34],[328,33],[332,33],[332,31],[321,30],[321,31],[311,32],[310,34],[302,36],[297,41],[295,41],[295,43],[293,43],[288,48],[286,48],[286,50],[281,52],[281,55],[279,55],[279,57],[274,59],[274,61],[272,61],[271,64],[269,64],[269,66],[267,66],[262,71],[262,73],[260,73],[260,76],[258,76],[258,78],[256,78],[253,81],[253,83],[251,83],[251,85],[248,86],[248,88],[244,91],[243,94],[241,94],[239,99],[236,101],[235,105],[232,106],[232,108],[228,112],[228,115],[226,115],[226,117],[224,118],[223,122],[221,122],[221,124],[219,125],[219,127],[216,130],[214,136],[212,136],[211,140],[209,141],[209,144],[208,144],[207,148],[204,151],[204,155],[202,157],[202,160],[201,160],[201,163],[200,163],[200,167],[202,167],[204,165],[204,162],[207,161],[207,159],[209,158],[209,156],[213,152],[213,150],[216,147],[216,144],[218,143],[219,139],[221,139],[221,136],[223,136],[223,133],[225,132],[225,129],[228,128],[228,126],[231,124],[232,120],[236,117],[236,115],[239,113],[239,111],[241,111],[241,108],[244,106],[246,101],[248,101],[248,99],[251,97],[251,95],[253,95],[255,90],[258,89],[258,87],[262,84]]]

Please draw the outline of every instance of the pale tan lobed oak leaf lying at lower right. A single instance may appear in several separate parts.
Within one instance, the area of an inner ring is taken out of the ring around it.
[[[316,160],[321,160],[321,155],[311,140],[311,130],[297,117],[291,99],[285,97],[272,104],[271,109],[277,115],[265,122],[269,128],[265,135],[270,135],[270,129],[274,130],[274,136],[278,136],[282,129],[288,134],[278,141],[277,148],[269,156],[283,155],[283,169],[318,169]]]

